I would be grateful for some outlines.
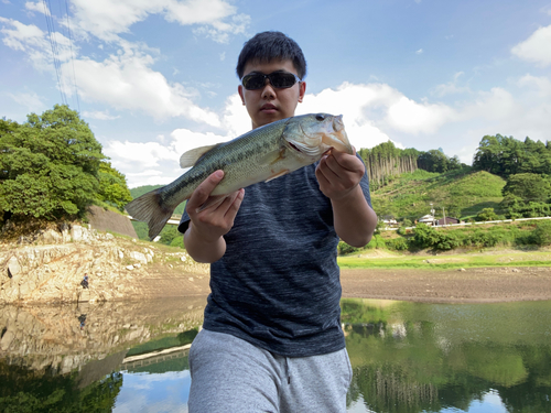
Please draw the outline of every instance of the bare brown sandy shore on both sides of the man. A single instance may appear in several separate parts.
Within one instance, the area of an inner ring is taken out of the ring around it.
[[[343,297],[430,303],[491,303],[551,300],[551,268],[503,267],[466,270],[341,270]],[[139,297],[206,296],[207,274],[166,267],[133,282]]]

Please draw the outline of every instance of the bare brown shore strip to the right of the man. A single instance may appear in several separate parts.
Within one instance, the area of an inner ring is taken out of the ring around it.
[[[343,297],[431,303],[551,300],[551,268],[342,270]]]

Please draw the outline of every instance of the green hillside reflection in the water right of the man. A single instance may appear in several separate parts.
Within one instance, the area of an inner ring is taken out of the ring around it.
[[[551,411],[551,302],[342,306],[355,411]]]

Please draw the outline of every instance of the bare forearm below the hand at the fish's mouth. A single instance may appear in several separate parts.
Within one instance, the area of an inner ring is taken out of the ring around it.
[[[364,247],[374,235],[377,215],[371,209],[361,187],[358,185],[345,198],[331,200],[335,231],[338,237],[353,247]]]

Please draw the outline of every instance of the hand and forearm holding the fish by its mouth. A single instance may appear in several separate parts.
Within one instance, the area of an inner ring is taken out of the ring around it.
[[[324,156],[315,171],[320,189],[333,206],[335,231],[353,247],[368,243],[377,226],[377,215],[359,186],[365,171],[356,154],[337,151]]]

